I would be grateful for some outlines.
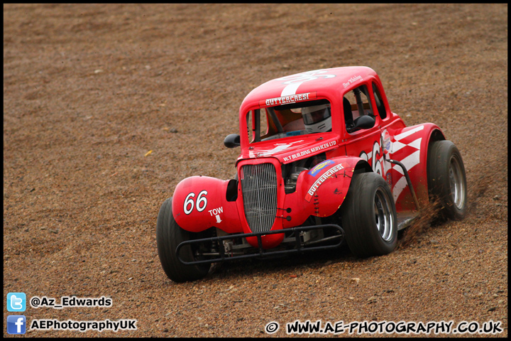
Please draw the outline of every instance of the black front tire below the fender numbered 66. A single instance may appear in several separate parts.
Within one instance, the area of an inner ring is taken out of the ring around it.
[[[185,265],[177,259],[176,248],[181,242],[192,238],[192,232],[182,229],[172,215],[172,197],[163,202],[156,222],[156,243],[158,256],[167,277],[175,282],[196,281],[207,275],[211,264]],[[198,237],[198,236],[197,236]],[[201,236],[202,237],[202,236]],[[185,261],[194,260],[190,245],[180,249],[180,256]]]

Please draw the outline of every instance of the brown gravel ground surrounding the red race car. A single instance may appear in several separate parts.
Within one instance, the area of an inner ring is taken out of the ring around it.
[[[233,176],[239,149],[223,141],[245,95],[349,65],[378,72],[407,125],[458,146],[466,220],[410,229],[388,256],[234,262],[172,283],[158,210],[183,178]],[[270,321],[286,336],[295,320],[493,320],[507,336],[507,4],[4,5],[9,292],[113,300],[28,306],[28,323],[138,320],[26,336],[263,337]]]

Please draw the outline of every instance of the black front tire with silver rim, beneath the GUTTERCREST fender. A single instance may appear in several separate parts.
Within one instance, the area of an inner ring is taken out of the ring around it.
[[[353,254],[366,258],[394,251],[397,243],[395,203],[381,175],[354,174],[341,215],[346,242]]]

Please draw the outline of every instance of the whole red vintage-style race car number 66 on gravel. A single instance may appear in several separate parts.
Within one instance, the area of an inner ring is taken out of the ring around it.
[[[388,254],[419,208],[440,200],[466,215],[458,148],[432,123],[405,126],[369,67],[336,67],[265,82],[239,110],[236,177],[192,176],[163,202],[156,237],[165,274],[204,277],[212,263],[346,243]]]

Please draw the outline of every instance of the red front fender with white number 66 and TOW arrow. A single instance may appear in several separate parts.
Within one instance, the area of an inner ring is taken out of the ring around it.
[[[192,176],[177,184],[172,199],[172,215],[189,232],[218,227],[227,233],[241,232],[236,201],[228,201],[230,180]]]

